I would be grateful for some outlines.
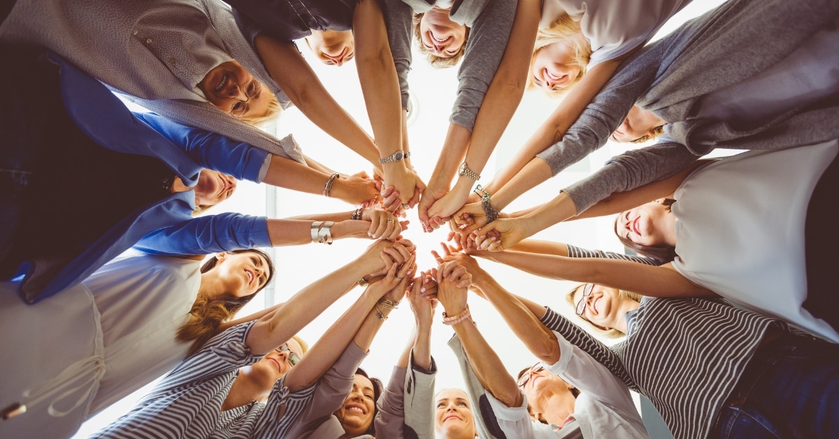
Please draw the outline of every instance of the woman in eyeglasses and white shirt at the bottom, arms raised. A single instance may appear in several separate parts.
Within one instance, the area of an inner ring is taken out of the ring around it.
[[[462,255],[441,263],[437,271],[437,299],[446,309],[446,321],[456,332],[453,348],[468,361],[464,373],[473,373],[485,389],[492,414],[482,422],[492,436],[529,438],[583,437],[646,438],[647,431],[626,384],[580,348],[551,332],[521,302],[498,285],[474,259]],[[461,265],[462,264],[462,265]],[[496,306],[516,336],[541,363],[519,374],[518,381],[504,369],[498,354],[478,332],[466,304],[466,287],[456,282],[471,277],[472,287]],[[450,342],[450,344],[452,344]],[[460,346],[458,346],[458,344]],[[483,395],[472,395],[482,399]],[[484,410],[486,405],[479,405]],[[493,431],[495,431],[493,433]]]

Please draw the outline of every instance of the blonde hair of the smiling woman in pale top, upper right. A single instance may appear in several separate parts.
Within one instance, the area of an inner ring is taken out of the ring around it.
[[[575,86],[577,82],[580,82],[582,76],[586,74],[588,61],[591,59],[591,44],[588,43],[588,40],[580,31],[580,24],[577,24],[576,21],[571,19],[571,16],[567,13],[563,13],[559,18],[554,20],[554,23],[550,24],[550,27],[539,29],[539,32],[536,34],[533,56],[530,57],[530,64],[533,65],[533,61],[540,50],[545,49],[550,44],[560,42],[573,44],[573,65],[580,67],[580,74],[577,75],[574,81],[571,81],[569,86],[560,88],[559,90],[548,91],[548,94],[553,97],[561,96],[565,91],[571,90],[571,87]],[[536,84],[534,84],[533,75],[529,75],[528,88],[534,87],[536,87]]]

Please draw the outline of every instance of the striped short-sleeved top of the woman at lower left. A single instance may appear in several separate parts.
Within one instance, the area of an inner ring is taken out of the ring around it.
[[[169,373],[126,415],[96,432],[102,438],[248,438],[284,437],[309,404],[315,386],[289,394],[278,379],[266,403],[251,402],[221,411],[238,369],[258,362],[245,337],[254,321],[213,337]],[[285,405],[282,418],[279,410]]]

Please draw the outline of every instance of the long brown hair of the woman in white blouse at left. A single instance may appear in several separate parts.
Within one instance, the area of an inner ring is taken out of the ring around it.
[[[244,297],[210,300],[203,295],[198,295],[192,304],[192,309],[190,309],[190,320],[178,328],[178,333],[175,336],[175,339],[180,342],[192,341],[187,356],[197,352],[201,346],[204,346],[206,342],[216,336],[221,323],[230,321],[237,311],[242,309],[242,306],[247,305],[253,299],[253,296],[257,295],[259,291],[263,290],[274,279],[274,263],[268,254],[262,250],[248,248],[244,250],[232,250],[227,253],[257,253],[262,256],[271,268],[268,274],[268,281],[252,295],[246,295]],[[201,273],[206,273],[215,268],[217,261],[218,259],[216,258],[211,258],[206,261],[204,265],[201,265]]]

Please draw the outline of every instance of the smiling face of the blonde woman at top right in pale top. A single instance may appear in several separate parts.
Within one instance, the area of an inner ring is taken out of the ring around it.
[[[574,83],[582,69],[576,64],[576,46],[573,43],[571,39],[561,40],[536,52],[530,66],[535,86],[545,91],[556,91]]]

